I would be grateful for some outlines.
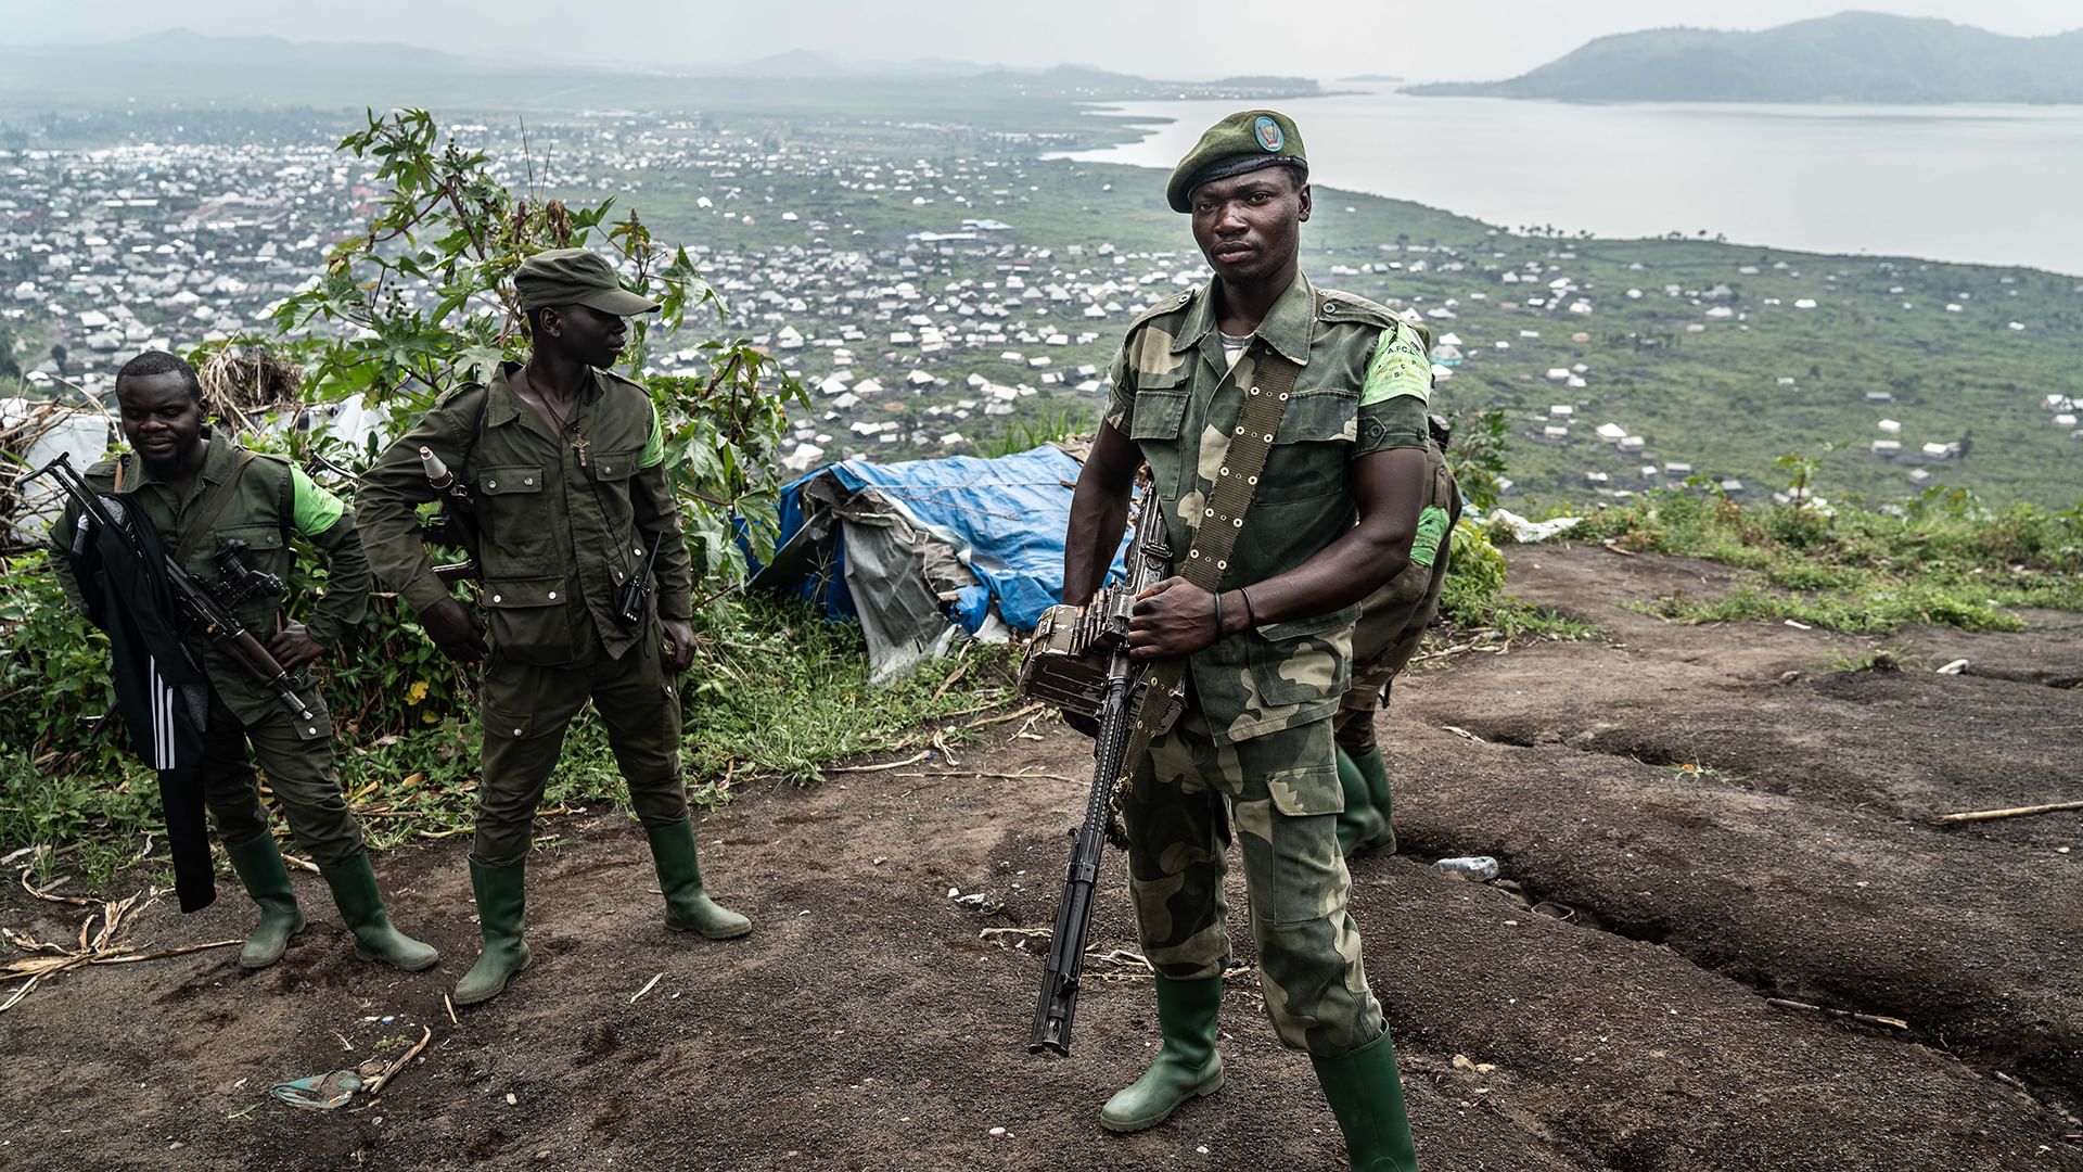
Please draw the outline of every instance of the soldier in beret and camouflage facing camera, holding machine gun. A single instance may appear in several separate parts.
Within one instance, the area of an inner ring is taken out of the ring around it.
[[[1129,644],[1137,659],[1185,659],[1187,707],[1135,767],[1121,813],[1164,1045],[1100,1122],[1156,1126],[1223,1086],[1235,834],[1273,1028],[1310,1055],[1352,1166],[1408,1172],[1396,1049],[1348,909],[1331,717],[1358,603],[1444,536],[1421,526],[1431,367],[1394,313],[1302,275],[1308,156],[1285,115],[1210,127],[1166,198],[1191,215],[1214,279],[1129,325],[1064,553],[1064,601],[1083,603],[1148,463],[1177,576],[1137,603]]]

